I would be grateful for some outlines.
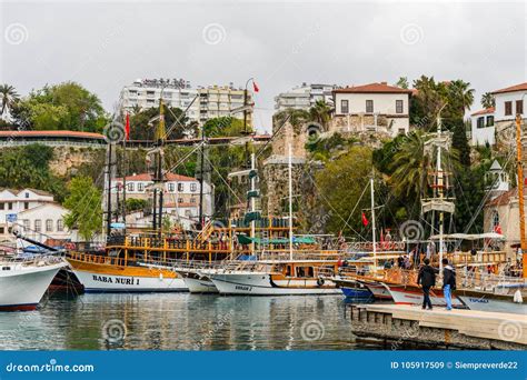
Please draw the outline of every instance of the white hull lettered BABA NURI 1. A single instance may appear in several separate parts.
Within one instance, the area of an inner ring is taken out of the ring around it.
[[[170,292],[188,291],[183,279],[96,273],[73,269],[86,292]]]

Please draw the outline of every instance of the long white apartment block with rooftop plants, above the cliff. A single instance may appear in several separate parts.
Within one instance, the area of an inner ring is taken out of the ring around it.
[[[211,118],[228,117],[242,119],[243,112],[237,111],[245,104],[245,90],[229,86],[208,86],[192,88],[182,79],[136,80],[125,86],[120,94],[122,111],[131,112],[135,108],[148,109],[159,107],[159,99],[165,104],[187,111],[191,121],[200,123]],[[252,103],[252,92],[247,91],[247,103]],[[250,113],[250,112],[249,112]],[[250,120],[248,120],[250,123]]]

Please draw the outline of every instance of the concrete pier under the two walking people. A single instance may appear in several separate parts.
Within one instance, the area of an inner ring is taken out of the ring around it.
[[[527,349],[527,316],[399,304],[352,304],[352,332],[394,350],[407,344],[464,349]]]

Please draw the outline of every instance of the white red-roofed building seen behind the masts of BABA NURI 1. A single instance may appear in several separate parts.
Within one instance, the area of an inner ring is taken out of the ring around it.
[[[117,198],[117,193],[122,193],[123,179],[112,180],[111,189]],[[152,177],[150,173],[133,174],[126,178],[127,199],[152,199]],[[173,222],[179,222],[187,227],[190,222],[197,222],[199,217],[200,183],[192,177],[167,173],[163,191],[163,213],[170,216]],[[213,213],[213,187],[203,182],[203,216],[210,217]],[[127,221],[135,224],[150,223],[151,217],[135,213]]]

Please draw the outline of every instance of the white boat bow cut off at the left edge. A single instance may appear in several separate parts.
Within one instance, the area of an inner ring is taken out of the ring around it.
[[[0,310],[34,310],[58,271],[66,262],[23,267],[1,264]],[[10,268],[9,270],[3,268]]]

